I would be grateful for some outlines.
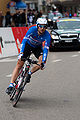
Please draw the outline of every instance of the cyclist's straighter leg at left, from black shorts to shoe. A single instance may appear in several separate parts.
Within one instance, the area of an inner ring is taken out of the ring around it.
[[[27,58],[31,54],[30,47],[26,42],[25,42],[25,45],[22,45],[22,46],[23,47],[21,48],[21,50],[24,50],[24,51],[23,51],[23,53],[20,53],[19,56],[18,56],[18,62],[17,62],[17,65],[16,65],[15,69],[13,70],[12,77],[11,77],[11,82],[10,82],[9,87],[6,89],[6,93],[9,93],[9,91],[12,90],[13,83],[17,79],[19,71],[20,71],[20,69],[22,68],[22,66],[24,64],[24,61],[22,61],[22,58],[23,59]]]

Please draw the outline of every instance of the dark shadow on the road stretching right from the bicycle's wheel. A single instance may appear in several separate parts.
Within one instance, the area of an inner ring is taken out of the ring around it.
[[[70,107],[71,104],[70,100],[59,100],[57,98],[21,98],[16,107],[21,109],[51,109],[54,107]]]

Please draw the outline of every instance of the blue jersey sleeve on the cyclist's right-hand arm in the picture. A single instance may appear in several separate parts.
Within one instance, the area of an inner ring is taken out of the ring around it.
[[[47,55],[48,55],[48,49],[49,49],[49,46],[50,46],[50,41],[51,41],[51,36],[50,34],[48,34],[46,36],[46,41],[45,41],[45,45],[44,45],[44,50],[43,50],[43,58],[42,58],[42,62],[46,62],[47,60]]]

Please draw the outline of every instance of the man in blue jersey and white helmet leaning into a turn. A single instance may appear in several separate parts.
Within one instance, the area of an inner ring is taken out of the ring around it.
[[[22,66],[24,65],[24,58],[27,58],[33,53],[38,59],[38,64],[35,65],[31,71],[28,72],[26,76],[27,83],[30,82],[31,75],[39,69],[43,70],[43,67],[47,60],[48,49],[50,45],[51,36],[47,29],[47,20],[45,18],[38,18],[36,26],[32,26],[26,33],[23,41],[21,43],[20,54],[18,56],[17,65],[13,71],[11,82],[9,87],[6,89],[6,93],[10,94],[14,86],[14,81],[18,77],[18,73]],[[42,46],[43,41],[45,41],[44,49]]]

